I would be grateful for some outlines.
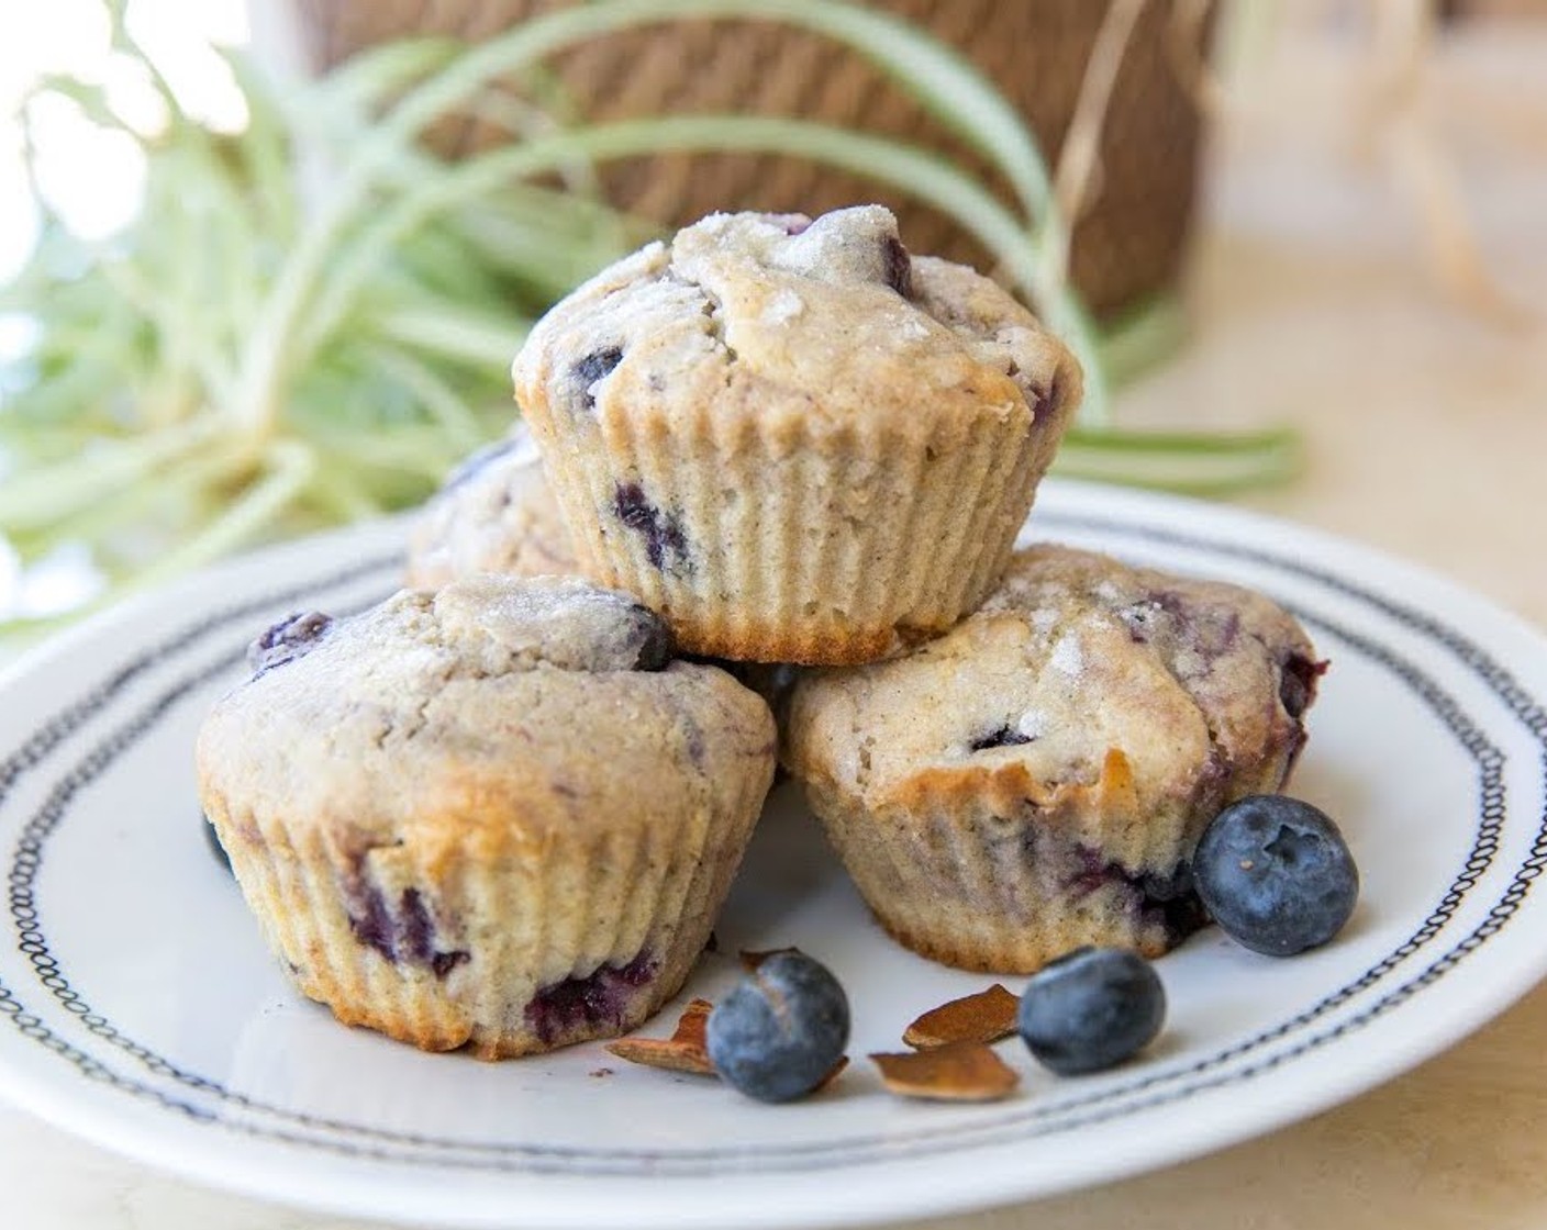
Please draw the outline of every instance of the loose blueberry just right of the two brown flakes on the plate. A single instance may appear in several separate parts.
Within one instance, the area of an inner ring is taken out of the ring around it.
[[[1122,1063],[1163,1021],[1165,987],[1139,953],[1075,948],[1026,984],[1016,1027],[1043,1064],[1069,1077]]]

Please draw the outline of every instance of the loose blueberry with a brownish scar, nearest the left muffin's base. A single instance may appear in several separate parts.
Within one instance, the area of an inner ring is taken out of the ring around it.
[[[764,958],[709,1015],[709,1060],[760,1102],[791,1102],[821,1085],[849,1043],[849,999],[804,953]]]

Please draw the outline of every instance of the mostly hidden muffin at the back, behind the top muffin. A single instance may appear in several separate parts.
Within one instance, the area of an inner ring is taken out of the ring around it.
[[[574,576],[569,531],[524,425],[452,470],[408,537],[407,582],[436,589],[473,572]]]

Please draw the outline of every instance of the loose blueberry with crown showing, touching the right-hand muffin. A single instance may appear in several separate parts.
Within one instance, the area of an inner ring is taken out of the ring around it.
[[[1358,868],[1320,809],[1276,794],[1231,803],[1204,829],[1193,879],[1231,939],[1293,956],[1343,930],[1358,900]]]

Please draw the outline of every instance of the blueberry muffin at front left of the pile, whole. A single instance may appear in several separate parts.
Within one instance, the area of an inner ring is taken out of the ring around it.
[[[486,1058],[673,996],[774,772],[767,706],[575,577],[478,576],[252,648],[200,791],[295,986]]]

